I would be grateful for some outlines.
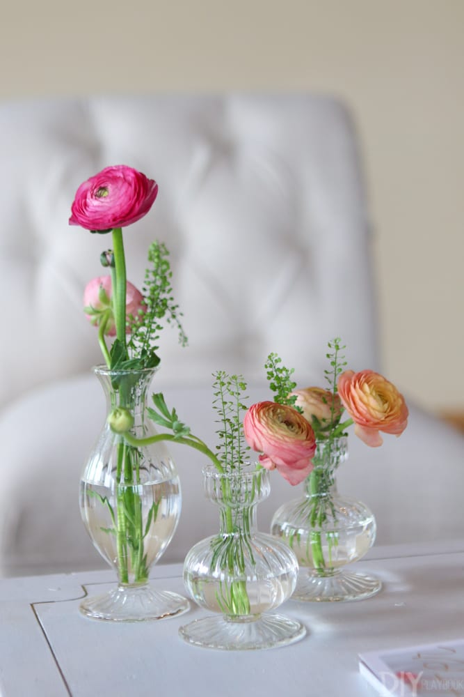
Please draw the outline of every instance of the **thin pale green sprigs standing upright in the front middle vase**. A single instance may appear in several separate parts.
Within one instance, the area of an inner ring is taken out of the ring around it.
[[[243,401],[248,399],[243,393],[246,391],[246,382],[241,375],[227,375],[223,370],[213,374],[213,408],[219,418],[216,423],[222,427],[216,431],[219,436],[218,458],[227,469],[234,469],[243,464],[245,453],[250,450],[246,445],[243,427],[242,412],[246,411]]]

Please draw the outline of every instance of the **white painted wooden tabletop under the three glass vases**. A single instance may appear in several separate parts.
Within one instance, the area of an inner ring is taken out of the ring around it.
[[[307,627],[293,645],[223,652],[177,629],[205,612],[120,624],[84,618],[81,597],[113,572],[0,581],[2,697],[371,697],[358,654],[464,636],[464,544],[378,547],[357,567],[383,581],[360,602],[280,608]],[[154,569],[157,588],[184,592],[181,565]],[[435,695],[436,697],[436,695]]]

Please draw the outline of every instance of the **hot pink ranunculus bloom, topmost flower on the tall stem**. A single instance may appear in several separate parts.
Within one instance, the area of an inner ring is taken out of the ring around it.
[[[95,232],[127,227],[148,213],[157,193],[156,181],[136,169],[125,164],[105,167],[79,186],[70,225]]]

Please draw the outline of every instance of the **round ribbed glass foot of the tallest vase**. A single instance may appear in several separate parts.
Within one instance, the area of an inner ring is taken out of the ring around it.
[[[182,595],[154,590],[150,585],[118,585],[102,595],[86,597],[79,606],[86,617],[113,622],[162,620],[182,615],[189,608],[189,601]]]

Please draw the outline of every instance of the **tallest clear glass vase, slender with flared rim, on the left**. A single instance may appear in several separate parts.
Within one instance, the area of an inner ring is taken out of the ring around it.
[[[111,371],[95,367],[104,388],[107,413],[124,408],[131,434],[157,433],[145,419],[146,395],[154,369]],[[155,620],[178,615],[189,602],[154,590],[150,567],[172,539],[181,510],[179,477],[165,443],[135,447],[113,433],[108,422],[90,453],[80,485],[83,523],[101,556],[118,574],[118,585],[87,597],[80,609],[101,620]]]

